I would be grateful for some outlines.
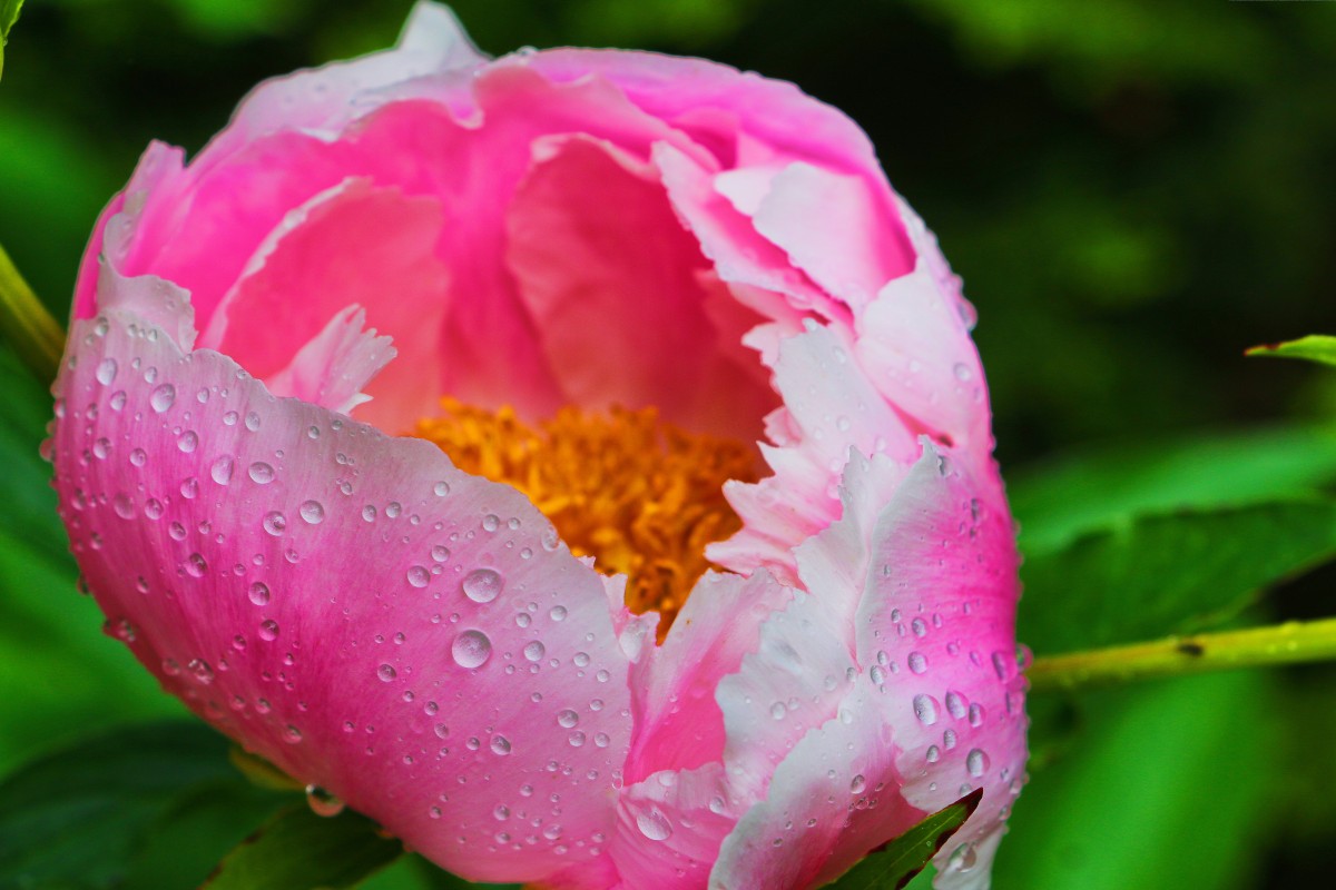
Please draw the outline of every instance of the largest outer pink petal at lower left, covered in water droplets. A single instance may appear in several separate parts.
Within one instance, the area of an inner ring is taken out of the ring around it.
[[[628,660],[599,575],[528,500],[124,308],[69,342],[61,514],[168,691],[468,878],[591,857],[631,743]]]

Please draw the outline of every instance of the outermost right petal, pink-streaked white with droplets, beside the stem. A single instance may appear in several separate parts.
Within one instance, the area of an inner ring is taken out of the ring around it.
[[[983,887],[1026,761],[1017,555],[995,467],[926,447],[871,542],[858,659],[878,666],[876,709],[898,730],[904,798],[935,811],[985,789],[937,858],[938,887]]]

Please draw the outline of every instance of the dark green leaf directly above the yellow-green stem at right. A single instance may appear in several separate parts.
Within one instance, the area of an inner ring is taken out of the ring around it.
[[[1054,655],[1202,630],[1332,556],[1336,504],[1324,500],[1124,519],[1026,555],[1017,634]]]

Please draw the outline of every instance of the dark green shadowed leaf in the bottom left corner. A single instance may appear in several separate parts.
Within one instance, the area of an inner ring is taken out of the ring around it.
[[[198,886],[291,799],[247,783],[198,722],[122,729],[0,782],[0,887]]]

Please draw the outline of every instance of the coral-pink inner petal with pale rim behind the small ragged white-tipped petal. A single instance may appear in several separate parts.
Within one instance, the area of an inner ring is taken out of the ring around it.
[[[436,412],[441,396],[444,358],[436,346],[449,287],[436,256],[441,227],[441,205],[432,197],[345,180],[291,211],[269,235],[202,343],[270,378],[330,319],[366,300],[367,322],[409,360],[366,386],[374,403],[358,416],[390,432],[410,430]]]

